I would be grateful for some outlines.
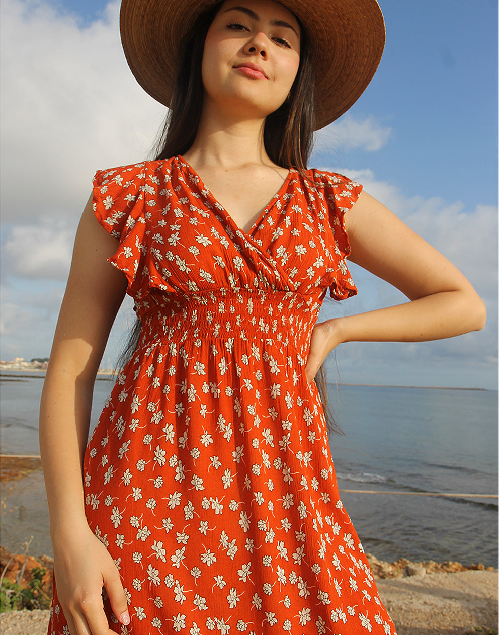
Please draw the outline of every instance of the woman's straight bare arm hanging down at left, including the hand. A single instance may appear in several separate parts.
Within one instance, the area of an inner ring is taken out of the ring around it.
[[[88,526],[83,495],[93,385],[126,291],[126,277],[106,260],[116,247],[116,239],[98,224],[90,198],[76,234],[40,406],[54,570],[71,635],[112,633],[103,587],[116,617],[123,624],[130,621],[119,572]]]

